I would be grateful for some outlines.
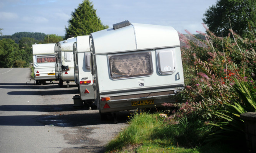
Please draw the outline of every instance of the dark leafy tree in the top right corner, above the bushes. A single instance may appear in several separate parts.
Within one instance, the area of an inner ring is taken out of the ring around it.
[[[227,36],[231,28],[243,35],[256,29],[255,6],[255,0],[218,0],[205,11],[203,22],[218,36]]]

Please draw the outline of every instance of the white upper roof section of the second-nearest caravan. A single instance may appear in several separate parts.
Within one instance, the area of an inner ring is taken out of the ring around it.
[[[77,52],[90,52],[89,35],[77,37]]]

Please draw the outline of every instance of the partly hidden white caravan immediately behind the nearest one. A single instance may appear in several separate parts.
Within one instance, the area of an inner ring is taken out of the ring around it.
[[[80,105],[85,102],[88,103],[91,108],[91,104],[94,101],[94,90],[92,87],[92,74],[90,70],[89,35],[78,36],[76,39],[76,42],[73,44],[74,81],[78,84],[80,92],[80,96],[78,98],[80,98],[81,101]]]

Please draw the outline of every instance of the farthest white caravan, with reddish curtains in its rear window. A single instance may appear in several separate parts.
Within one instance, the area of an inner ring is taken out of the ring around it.
[[[55,80],[54,46],[55,43],[32,45],[34,80],[37,85]]]

